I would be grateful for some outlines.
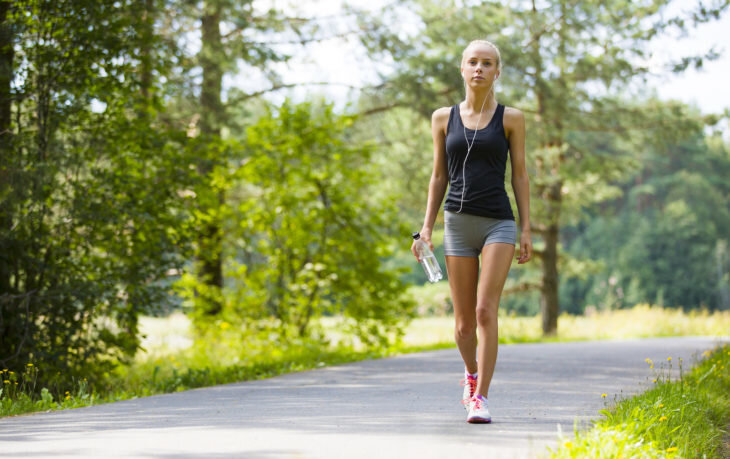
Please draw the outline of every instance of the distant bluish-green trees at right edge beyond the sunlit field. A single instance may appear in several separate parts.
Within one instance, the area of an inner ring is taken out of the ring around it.
[[[639,302],[710,309],[730,307],[730,148],[719,137],[696,135],[675,145],[652,145],[626,190],[569,229],[566,249],[604,260],[607,269],[564,283],[565,301],[598,308]],[[600,213],[599,213],[600,210]],[[575,231],[575,233],[573,233]]]

